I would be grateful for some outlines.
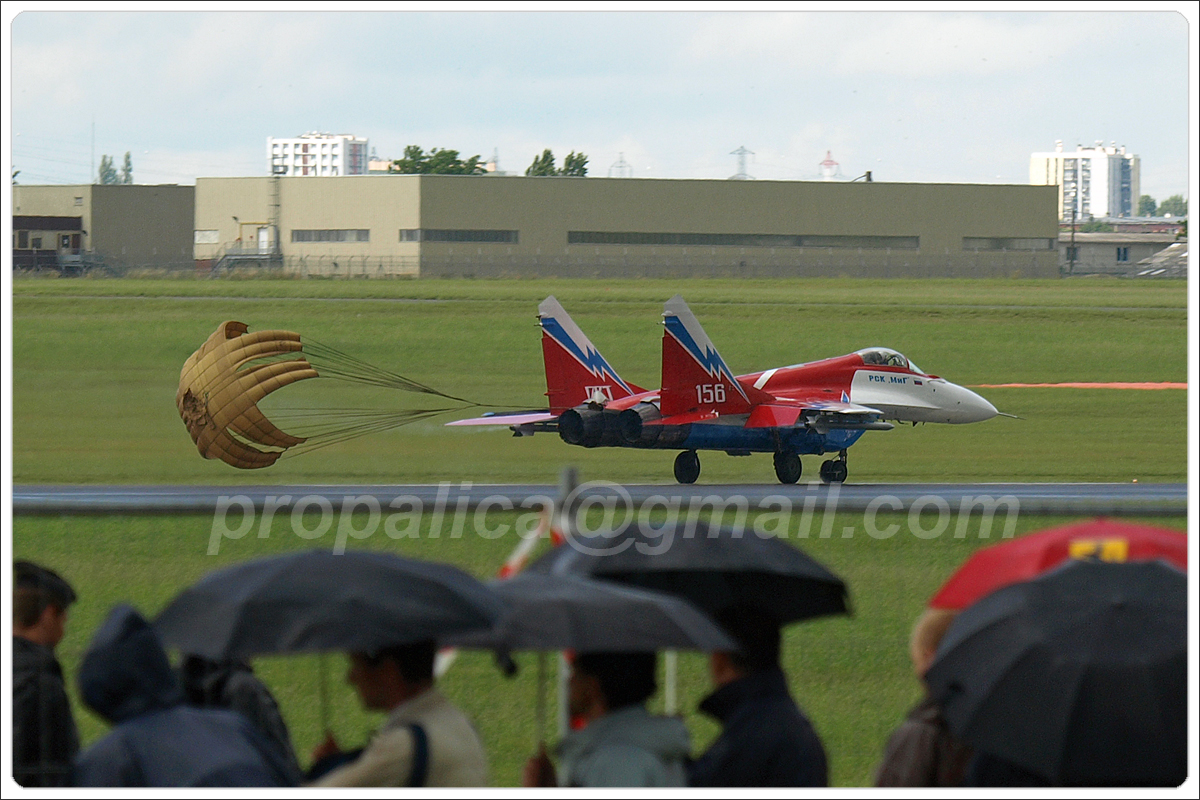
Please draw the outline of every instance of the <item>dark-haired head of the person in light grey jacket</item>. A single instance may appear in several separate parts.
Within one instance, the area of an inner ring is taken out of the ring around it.
[[[642,704],[658,688],[654,652],[581,652],[571,666],[568,704],[572,716],[594,720]]]

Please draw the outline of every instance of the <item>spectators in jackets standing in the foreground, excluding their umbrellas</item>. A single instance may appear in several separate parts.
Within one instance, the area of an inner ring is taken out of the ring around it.
[[[83,702],[112,730],[80,751],[55,657],[77,601],[56,572],[14,565],[13,777],[24,787],[473,787],[488,782],[470,720],[436,685],[432,639],[350,652],[347,681],[365,709],[386,716],[368,744],[346,751],[330,734],[307,772],[275,699],[248,664],[184,656],[172,668],[154,627],[118,606],[79,667]],[[956,612],[929,609],[910,654],[920,681]],[[673,716],[650,714],[656,654],[580,652],[569,710],[577,723],[522,770],[526,787],[823,787],[826,751],[788,691],[780,626],[751,607],[715,616],[738,649],[709,655],[713,691],[700,710],[721,726],[692,756]],[[888,739],[881,787],[1039,783],[1038,776],[972,753],[926,696]]]

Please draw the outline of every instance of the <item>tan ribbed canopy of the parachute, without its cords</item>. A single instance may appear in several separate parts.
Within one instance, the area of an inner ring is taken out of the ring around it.
[[[184,362],[175,395],[200,455],[241,469],[270,467],[284,450],[306,440],[280,431],[258,410],[258,402],[276,389],[318,375],[304,355],[245,366],[302,349],[299,333],[248,331],[244,323],[221,323]]]

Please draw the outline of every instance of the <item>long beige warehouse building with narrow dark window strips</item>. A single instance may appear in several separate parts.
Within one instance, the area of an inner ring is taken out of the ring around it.
[[[329,276],[1057,277],[1052,186],[202,178],[200,269]]]

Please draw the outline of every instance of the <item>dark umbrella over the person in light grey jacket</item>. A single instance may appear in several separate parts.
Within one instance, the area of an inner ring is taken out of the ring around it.
[[[491,631],[443,643],[508,650],[733,650],[734,642],[691,603],[659,591],[580,576],[523,573],[491,588],[508,606]]]

